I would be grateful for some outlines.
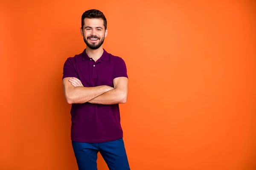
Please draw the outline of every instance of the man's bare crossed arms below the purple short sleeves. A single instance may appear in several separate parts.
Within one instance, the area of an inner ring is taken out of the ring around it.
[[[125,103],[128,95],[128,78],[113,79],[114,88],[102,85],[97,87],[83,87],[81,81],[75,77],[63,79],[64,96],[69,104],[90,102],[93,104],[113,105]]]

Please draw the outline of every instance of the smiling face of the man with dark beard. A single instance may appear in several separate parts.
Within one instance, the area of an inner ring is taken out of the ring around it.
[[[95,50],[102,46],[108,30],[105,30],[104,21],[101,18],[85,18],[81,34],[87,47]]]

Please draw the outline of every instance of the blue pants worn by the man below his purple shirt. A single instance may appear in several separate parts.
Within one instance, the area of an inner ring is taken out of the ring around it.
[[[79,170],[97,170],[99,152],[109,170],[130,170],[123,139],[103,143],[84,143],[72,141]]]

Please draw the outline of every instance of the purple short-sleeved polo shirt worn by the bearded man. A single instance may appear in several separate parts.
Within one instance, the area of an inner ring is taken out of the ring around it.
[[[97,62],[90,58],[85,50],[79,55],[67,58],[62,79],[76,77],[81,80],[84,87],[113,87],[114,78],[128,78],[124,60],[103,50]],[[99,143],[120,139],[123,136],[118,104],[72,104],[70,113],[72,141]]]

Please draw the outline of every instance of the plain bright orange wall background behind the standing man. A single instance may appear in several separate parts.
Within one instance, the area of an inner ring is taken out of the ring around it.
[[[256,169],[253,1],[1,1],[1,170],[77,170],[67,57],[81,14],[104,12],[104,48],[125,59],[121,123],[132,170]],[[107,170],[102,157],[99,170]]]

